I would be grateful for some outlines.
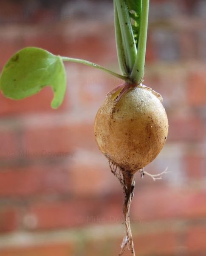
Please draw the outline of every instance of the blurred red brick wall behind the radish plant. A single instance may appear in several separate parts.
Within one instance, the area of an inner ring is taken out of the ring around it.
[[[136,175],[131,207],[137,256],[206,255],[206,1],[150,0],[145,81],[161,93],[169,137]],[[41,47],[119,72],[112,0],[0,1],[0,70]],[[117,256],[123,194],[93,134],[120,80],[66,63],[67,92],[13,101],[0,95],[0,256]],[[130,255],[128,252],[125,256]]]

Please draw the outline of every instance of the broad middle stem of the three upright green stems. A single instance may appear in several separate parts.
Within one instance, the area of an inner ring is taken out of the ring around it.
[[[119,17],[121,38],[125,54],[125,61],[128,73],[131,73],[137,53],[133,29],[125,0],[115,0]]]

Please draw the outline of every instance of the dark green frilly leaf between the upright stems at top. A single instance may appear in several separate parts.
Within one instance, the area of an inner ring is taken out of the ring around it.
[[[138,49],[138,38],[140,29],[140,18],[142,12],[142,0],[125,0],[130,15],[133,34],[135,35],[136,48]]]

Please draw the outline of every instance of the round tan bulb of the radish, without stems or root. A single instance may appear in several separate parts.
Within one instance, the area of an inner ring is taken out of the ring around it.
[[[96,114],[94,133],[99,149],[121,169],[136,172],[159,154],[168,134],[161,96],[148,87],[110,94]]]

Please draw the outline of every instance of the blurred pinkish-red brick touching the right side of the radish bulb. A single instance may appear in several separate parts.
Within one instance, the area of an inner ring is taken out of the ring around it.
[[[169,141],[202,141],[203,120],[198,116],[169,116]]]

